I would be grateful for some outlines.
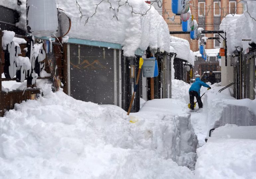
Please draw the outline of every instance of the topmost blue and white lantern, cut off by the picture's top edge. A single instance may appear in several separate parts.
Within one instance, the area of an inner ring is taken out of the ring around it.
[[[187,13],[189,11],[189,1],[172,0],[172,11],[176,15]]]

